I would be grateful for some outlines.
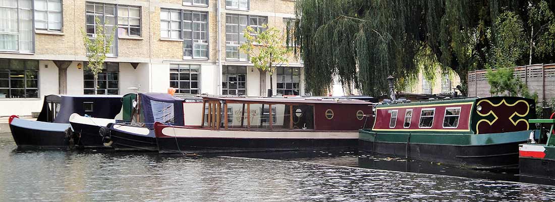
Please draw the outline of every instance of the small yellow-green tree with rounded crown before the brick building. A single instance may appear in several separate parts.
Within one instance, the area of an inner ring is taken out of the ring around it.
[[[241,52],[249,55],[250,62],[254,67],[270,74],[270,89],[274,92],[272,75],[275,68],[289,61],[292,49],[287,47],[282,32],[275,28],[269,28],[264,24],[265,31],[253,29],[248,26],[243,31],[246,42],[239,48]]]

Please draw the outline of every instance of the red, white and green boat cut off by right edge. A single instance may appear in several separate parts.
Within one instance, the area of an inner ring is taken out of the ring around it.
[[[519,172],[521,176],[555,179],[555,119],[531,119],[530,123],[551,124],[551,128],[546,143],[530,140],[518,146]]]

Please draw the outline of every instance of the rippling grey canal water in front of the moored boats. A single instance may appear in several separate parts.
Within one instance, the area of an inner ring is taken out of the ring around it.
[[[356,151],[184,157],[16,148],[0,134],[1,201],[555,200],[554,186],[502,181],[517,180],[514,171]]]

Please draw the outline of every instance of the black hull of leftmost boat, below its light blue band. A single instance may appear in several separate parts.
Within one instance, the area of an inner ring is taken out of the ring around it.
[[[65,132],[37,130],[9,125],[17,147],[23,148],[67,148],[70,138]],[[69,127],[68,127],[69,128]]]

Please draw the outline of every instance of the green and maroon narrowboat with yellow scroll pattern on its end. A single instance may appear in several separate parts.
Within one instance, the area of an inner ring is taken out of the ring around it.
[[[373,153],[475,169],[518,165],[518,144],[535,125],[534,100],[521,97],[454,98],[381,104],[359,148]]]

